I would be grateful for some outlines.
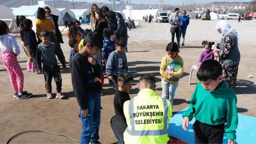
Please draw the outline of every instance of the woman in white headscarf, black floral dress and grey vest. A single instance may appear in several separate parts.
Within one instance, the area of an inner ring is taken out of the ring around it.
[[[220,20],[216,25],[216,29],[221,34],[221,40],[214,48],[214,56],[220,59],[222,76],[226,81],[226,85],[234,88],[236,87],[238,65],[240,62],[237,32],[225,20]]]

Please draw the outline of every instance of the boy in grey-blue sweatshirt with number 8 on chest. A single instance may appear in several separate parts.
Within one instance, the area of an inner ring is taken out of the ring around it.
[[[116,90],[118,90],[117,76],[128,73],[127,58],[124,52],[125,46],[126,42],[123,37],[116,38],[116,50],[110,53],[106,65],[108,80],[113,80]]]

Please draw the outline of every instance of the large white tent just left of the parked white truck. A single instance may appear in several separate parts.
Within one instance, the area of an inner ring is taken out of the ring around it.
[[[123,10],[122,11],[125,15],[125,19],[130,17],[130,10]],[[162,9],[148,9],[148,10],[132,10],[132,20],[142,20],[142,17],[146,15],[152,15],[156,17],[157,12],[164,12]]]

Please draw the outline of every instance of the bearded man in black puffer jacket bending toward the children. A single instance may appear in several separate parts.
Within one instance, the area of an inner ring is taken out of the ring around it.
[[[113,12],[108,9],[107,6],[101,8],[102,14],[106,17],[108,21],[108,28],[113,32],[110,37],[111,41],[115,41],[117,37],[124,37],[126,40],[126,47],[128,42],[127,27],[125,26],[124,18],[122,14],[118,12]],[[125,49],[128,52],[127,48]]]

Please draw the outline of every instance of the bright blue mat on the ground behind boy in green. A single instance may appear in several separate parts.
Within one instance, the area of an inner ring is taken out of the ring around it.
[[[187,110],[185,108],[178,113],[174,114],[169,121],[168,135],[179,138],[188,142],[189,144],[194,144],[194,131],[192,126],[195,122],[195,118],[189,122],[188,131],[184,131],[182,128],[182,113]],[[225,138],[223,144],[227,144],[228,140]],[[238,126],[236,129],[236,140],[235,143],[238,144],[252,144],[256,143],[256,118],[251,116],[245,116],[238,114]]]

